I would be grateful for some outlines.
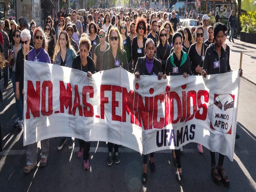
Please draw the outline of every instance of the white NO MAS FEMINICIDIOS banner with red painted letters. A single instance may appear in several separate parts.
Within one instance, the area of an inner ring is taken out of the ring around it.
[[[238,71],[201,76],[134,75],[123,68],[86,73],[24,65],[24,145],[52,137],[108,141],[148,154],[190,143],[233,160]]]

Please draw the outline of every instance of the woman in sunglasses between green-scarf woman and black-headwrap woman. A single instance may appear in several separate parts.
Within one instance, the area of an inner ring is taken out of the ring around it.
[[[201,75],[203,69],[204,56],[207,45],[204,44],[204,29],[200,25],[195,30],[196,43],[190,46],[188,57],[191,61],[191,72],[193,75]],[[203,149],[202,149],[203,150]]]

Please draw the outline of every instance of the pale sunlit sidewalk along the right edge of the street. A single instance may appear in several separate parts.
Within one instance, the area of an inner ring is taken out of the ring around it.
[[[243,52],[242,69],[243,76],[251,83],[256,85],[256,44],[240,41],[240,37],[234,39],[235,43],[228,41],[226,44],[230,47],[229,63],[232,70],[237,70],[240,63],[240,52]]]

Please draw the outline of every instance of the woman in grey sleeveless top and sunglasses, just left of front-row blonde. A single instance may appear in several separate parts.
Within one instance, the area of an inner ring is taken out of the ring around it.
[[[106,35],[105,35],[104,29],[100,29],[99,38],[100,38],[100,44],[98,44],[96,46],[95,51],[94,51],[94,56],[93,56],[93,62],[95,64],[97,72],[101,71],[103,53],[109,47],[109,44],[105,41],[106,40]]]

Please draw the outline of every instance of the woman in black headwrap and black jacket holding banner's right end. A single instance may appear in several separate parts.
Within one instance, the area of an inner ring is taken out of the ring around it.
[[[227,31],[227,26],[223,23],[216,23],[213,27],[213,38],[215,40],[214,44],[206,49],[202,76],[226,73],[228,71],[228,53],[222,47],[224,33]],[[243,70],[239,69],[239,76],[243,75]],[[216,104],[215,104],[216,105]],[[211,153],[211,166],[212,166],[212,178],[216,184],[221,183],[226,187],[229,187],[230,180],[223,169],[224,155],[219,155],[218,166],[216,166],[215,152]]]

